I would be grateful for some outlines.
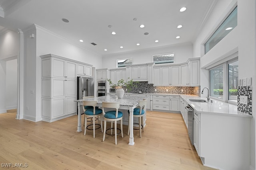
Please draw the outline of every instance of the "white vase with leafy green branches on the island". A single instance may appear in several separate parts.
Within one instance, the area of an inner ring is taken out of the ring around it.
[[[112,88],[116,88],[116,95],[118,98],[123,98],[124,88],[127,89],[127,92],[131,92],[132,88],[137,86],[130,77],[128,77],[126,81],[124,81],[124,79],[118,80],[116,84],[114,84],[110,79],[107,79],[107,81]]]

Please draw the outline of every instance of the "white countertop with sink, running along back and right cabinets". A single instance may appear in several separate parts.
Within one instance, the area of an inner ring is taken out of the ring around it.
[[[124,93],[124,94],[138,94],[138,93]],[[242,117],[252,117],[252,115],[249,115],[248,113],[243,113],[240,111],[237,111],[237,106],[233,104],[228,104],[226,102],[221,102],[219,100],[212,100],[212,103],[210,102],[191,102],[189,99],[203,99],[207,101],[206,97],[199,97],[192,94],[160,94],[160,93],[142,93],[144,95],[170,95],[170,96],[180,96],[186,102],[193,107],[194,110],[200,112],[200,113],[212,113],[212,114],[225,114],[225,115],[231,115],[231,116],[242,116]],[[134,97],[134,96],[133,96]]]

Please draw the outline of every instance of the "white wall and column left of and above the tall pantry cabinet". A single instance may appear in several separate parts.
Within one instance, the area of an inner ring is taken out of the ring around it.
[[[31,34],[34,38],[30,38]],[[41,118],[41,55],[53,54],[102,67],[102,56],[78,47],[38,25],[24,30],[24,119]]]

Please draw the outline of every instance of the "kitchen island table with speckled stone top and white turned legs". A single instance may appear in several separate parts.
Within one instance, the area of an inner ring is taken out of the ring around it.
[[[130,111],[130,138],[129,138],[129,145],[134,145],[134,137],[133,137],[133,109],[139,105],[139,101],[145,99],[144,96],[124,96],[123,98],[117,98],[115,94],[108,95],[108,96],[100,96],[95,98],[88,98],[84,99],[87,101],[97,101],[97,106],[102,107],[102,102],[120,102],[119,109],[126,109]],[[80,105],[83,104],[83,99],[81,100],[74,100],[77,102],[78,106],[78,125],[77,131],[82,131],[81,125],[81,112],[80,112]],[[145,114],[146,115],[146,114]]]

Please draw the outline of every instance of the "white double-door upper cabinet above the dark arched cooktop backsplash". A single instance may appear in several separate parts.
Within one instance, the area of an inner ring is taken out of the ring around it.
[[[148,65],[130,66],[130,78],[134,81],[148,81]]]

